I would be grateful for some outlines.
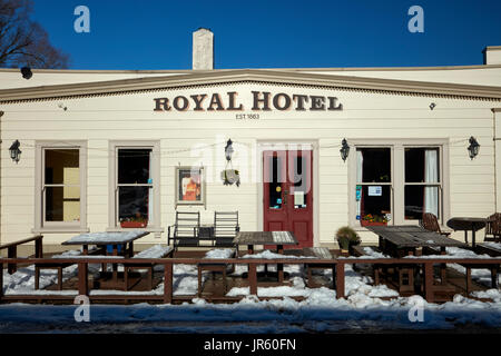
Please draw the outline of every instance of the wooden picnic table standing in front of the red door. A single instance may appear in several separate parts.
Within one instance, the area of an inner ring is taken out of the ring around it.
[[[255,245],[276,246],[277,254],[284,254],[284,245],[298,245],[292,231],[239,231],[233,239],[235,245],[247,245],[249,255],[254,254]],[[265,265],[266,268],[266,265]],[[284,266],[277,265],[278,281],[284,280]]]

